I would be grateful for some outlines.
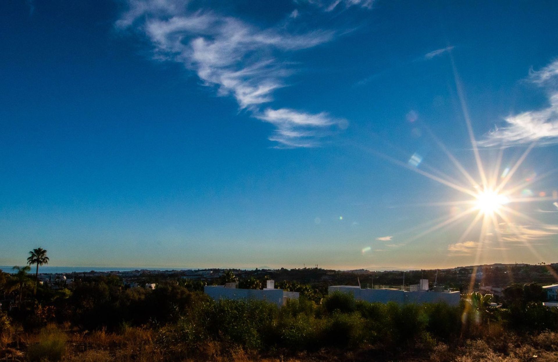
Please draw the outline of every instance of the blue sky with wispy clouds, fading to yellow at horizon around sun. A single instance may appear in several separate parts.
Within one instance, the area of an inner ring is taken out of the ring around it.
[[[519,1],[4,1],[0,265],[37,246],[57,266],[556,262],[556,15]],[[468,179],[439,143],[482,182],[467,120],[499,180],[529,151],[502,190],[511,211],[427,233],[472,199],[448,187]]]

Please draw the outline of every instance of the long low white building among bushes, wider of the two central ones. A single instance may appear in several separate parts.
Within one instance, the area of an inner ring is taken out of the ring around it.
[[[446,302],[449,305],[456,306],[459,305],[461,299],[459,292],[429,292],[426,290],[407,292],[400,289],[360,289],[358,286],[330,286],[328,288],[328,293],[335,291],[350,293],[358,301],[380,303],[419,304]]]

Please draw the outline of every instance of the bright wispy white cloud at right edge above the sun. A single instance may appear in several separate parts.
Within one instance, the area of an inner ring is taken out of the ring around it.
[[[505,118],[506,126],[494,128],[480,146],[516,146],[537,142],[537,144],[558,143],[558,60],[540,71],[531,71],[529,81],[545,86],[549,93],[549,106],[540,110],[530,110]]]

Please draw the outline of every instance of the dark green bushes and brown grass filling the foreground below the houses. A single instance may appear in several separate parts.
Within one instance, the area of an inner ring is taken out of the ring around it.
[[[0,273],[0,295],[16,301],[0,311],[0,361],[558,360],[558,310],[542,306],[535,283],[512,284],[495,307],[478,292],[459,306],[398,305],[282,281],[301,298],[278,308],[214,301],[189,279],[147,289],[84,274],[54,287],[28,272]],[[232,271],[222,279],[264,283]]]

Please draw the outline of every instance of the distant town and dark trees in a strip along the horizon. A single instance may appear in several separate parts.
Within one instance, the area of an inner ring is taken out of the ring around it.
[[[479,291],[494,295],[496,300],[503,296],[503,289],[514,283],[553,284],[557,280],[558,263],[551,264],[483,264],[479,266],[460,266],[449,269],[420,269],[411,271],[369,271],[354,269],[338,271],[333,269],[296,268],[296,269],[182,269],[159,270],[137,269],[133,271],[89,271],[72,273],[39,273],[39,281],[51,288],[70,286],[74,281],[99,276],[116,276],[121,278],[123,286],[153,286],[157,283],[176,279],[181,283],[197,286],[200,291],[203,286],[218,285],[223,281],[226,272],[233,272],[240,281],[240,286],[246,286],[247,281],[258,279],[273,279],[277,287],[285,290],[297,289],[297,286],[307,286],[315,296],[328,293],[329,286],[347,285],[362,288],[381,289],[396,288],[411,291],[413,285],[427,279],[427,289],[445,291],[459,291],[462,293]],[[245,282],[243,282],[245,281]],[[294,283],[294,284],[293,284]],[[249,286],[253,288],[254,286]],[[261,285],[257,288],[263,288]],[[441,288],[441,289],[440,289]],[[300,289],[300,287],[298,288]]]

